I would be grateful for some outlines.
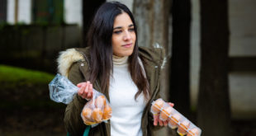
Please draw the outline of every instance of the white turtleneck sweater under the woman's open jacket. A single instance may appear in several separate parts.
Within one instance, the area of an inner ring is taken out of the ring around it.
[[[111,136],[141,136],[141,116],[145,97],[141,93],[135,101],[138,88],[128,70],[128,57],[113,56],[113,73],[109,97],[112,108]]]

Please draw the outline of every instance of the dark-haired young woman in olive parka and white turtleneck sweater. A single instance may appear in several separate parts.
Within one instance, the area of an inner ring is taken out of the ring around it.
[[[59,56],[59,73],[80,88],[67,106],[64,124],[70,135],[83,135],[81,111],[92,98],[92,87],[110,101],[112,117],[89,135],[153,135],[158,116],[150,113],[159,98],[164,54],[160,48],[139,48],[134,17],[120,2],[105,2],[88,31],[88,47],[68,49]],[[173,106],[173,105],[172,105]]]

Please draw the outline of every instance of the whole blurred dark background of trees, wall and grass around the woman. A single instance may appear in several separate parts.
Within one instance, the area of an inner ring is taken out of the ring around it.
[[[162,45],[162,97],[203,136],[256,135],[256,1],[119,0],[139,46]],[[104,0],[0,0],[0,135],[66,135],[48,83],[59,51],[86,46]],[[168,127],[156,135],[178,135]]]

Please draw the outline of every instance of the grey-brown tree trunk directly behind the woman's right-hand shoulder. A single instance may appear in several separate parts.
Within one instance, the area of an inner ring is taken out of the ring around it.
[[[134,0],[133,13],[138,27],[138,45],[152,46],[156,43],[163,46],[168,54],[168,16],[170,0]],[[168,64],[164,67],[160,95],[168,100]],[[167,127],[156,135],[167,134]]]

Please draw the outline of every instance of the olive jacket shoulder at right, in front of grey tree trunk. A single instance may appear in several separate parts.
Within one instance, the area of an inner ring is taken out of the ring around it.
[[[164,68],[167,61],[165,49],[159,45],[155,45],[154,47],[139,47],[139,54],[143,60],[154,63],[154,65],[158,65],[161,68]]]

